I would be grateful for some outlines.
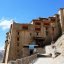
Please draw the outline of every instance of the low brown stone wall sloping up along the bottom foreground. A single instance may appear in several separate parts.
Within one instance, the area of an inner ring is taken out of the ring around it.
[[[17,59],[16,61],[10,61],[8,64],[30,64],[32,62],[35,62],[36,59],[37,59],[37,54],[34,54],[28,57]]]

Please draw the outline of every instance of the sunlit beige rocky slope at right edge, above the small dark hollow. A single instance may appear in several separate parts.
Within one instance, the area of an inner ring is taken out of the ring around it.
[[[64,35],[62,35],[58,40],[55,42],[56,50],[61,54],[64,54]]]

